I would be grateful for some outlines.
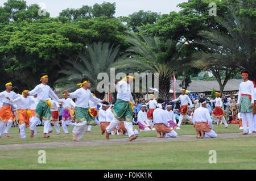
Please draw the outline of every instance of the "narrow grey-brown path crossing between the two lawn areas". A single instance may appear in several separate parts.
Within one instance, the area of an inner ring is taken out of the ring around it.
[[[221,133],[217,138],[237,138],[237,137],[255,137],[253,135],[241,135],[241,133]],[[212,138],[212,139],[217,139]],[[120,145],[120,144],[134,144],[134,143],[151,143],[151,142],[167,142],[167,141],[195,141],[207,140],[197,139],[196,135],[182,135],[176,138],[157,138],[157,137],[138,137],[136,140],[129,141],[128,138],[110,139],[108,140],[90,140],[90,141],[67,141],[67,142],[38,142],[33,144],[13,144],[0,145],[0,150],[18,150],[18,149],[34,149],[34,148],[58,148],[58,147],[76,147],[76,146],[97,146],[97,145]]]

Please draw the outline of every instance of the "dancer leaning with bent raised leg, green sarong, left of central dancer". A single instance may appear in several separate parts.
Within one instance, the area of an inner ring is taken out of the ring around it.
[[[77,124],[73,129],[73,140],[79,142],[86,131],[87,125],[94,123],[94,117],[89,113],[89,100],[94,103],[100,103],[104,102],[105,99],[101,100],[92,95],[89,90],[90,81],[88,78],[83,78],[82,82],[77,85],[81,88],[72,93],[64,90],[64,94],[72,99],[76,98],[75,115]]]

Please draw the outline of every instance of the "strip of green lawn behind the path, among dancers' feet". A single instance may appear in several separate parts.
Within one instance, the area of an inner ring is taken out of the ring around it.
[[[135,125],[135,128],[139,130],[138,125]],[[34,138],[30,138],[30,129],[26,129],[27,137],[22,139],[20,138],[18,128],[11,128],[10,137],[3,136],[0,138],[0,145],[6,144],[24,144],[24,143],[34,143],[34,142],[56,142],[56,141],[72,141],[72,129],[73,127],[68,127],[69,134],[65,134],[63,132],[62,127],[60,127],[60,135],[57,135],[55,132],[55,128],[53,128],[53,133],[50,133],[49,138],[43,138],[43,127],[36,127],[38,134]],[[225,129],[224,125],[214,125],[214,129],[217,133],[238,133],[242,132],[242,130],[238,129],[238,125],[230,124],[228,129]],[[105,135],[101,135],[100,127],[95,126],[92,127],[92,132],[85,133],[81,138],[81,141],[85,140],[104,140]],[[175,130],[179,135],[196,135],[195,128],[193,125],[181,125],[181,129]],[[156,131],[151,132],[139,132],[139,137],[156,137]],[[116,138],[127,138],[127,136],[112,136],[110,135],[110,139]]]

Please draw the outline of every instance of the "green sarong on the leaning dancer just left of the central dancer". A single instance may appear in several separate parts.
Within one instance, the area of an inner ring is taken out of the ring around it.
[[[75,107],[76,123],[86,121],[86,124],[93,125],[94,117],[90,115],[89,108]]]

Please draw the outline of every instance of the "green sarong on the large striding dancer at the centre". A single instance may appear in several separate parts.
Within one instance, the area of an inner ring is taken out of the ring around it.
[[[111,111],[119,121],[133,121],[133,112],[131,111],[131,104],[125,100],[118,99]]]

